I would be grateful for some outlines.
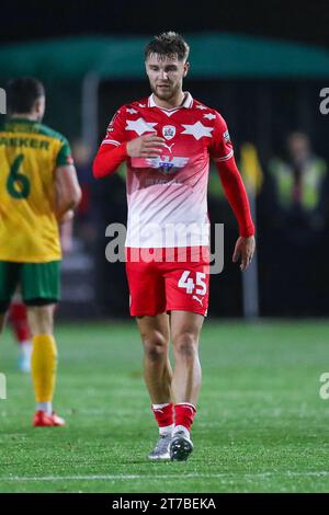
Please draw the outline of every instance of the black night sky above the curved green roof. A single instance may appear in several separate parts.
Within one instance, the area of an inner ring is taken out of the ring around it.
[[[67,35],[228,31],[329,47],[328,1],[1,2],[0,42]]]

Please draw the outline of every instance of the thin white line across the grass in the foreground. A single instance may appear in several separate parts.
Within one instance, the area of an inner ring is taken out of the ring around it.
[[[321,471],[309,471],[309,472],[260,472],[260,473],[188,473],[183,478],[205,478],[205,479],[238,479],[238,478],[250,478],[250,479],[264,479],[271,476],[286,476],[288,478],[295,477],[324,477],[329,476],[328,470]],[[104,480],[135,480],[135,479],[182,479],[181,474],[103,474],[103,476],[44,476],[44,477],[29,477],[29,476],[11,476],[9,478],[1,478],[1,481],[104,481]]]

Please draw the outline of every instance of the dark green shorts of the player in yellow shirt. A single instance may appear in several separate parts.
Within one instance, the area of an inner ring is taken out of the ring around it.
[[[19,285],[27,306],[57,302],[60,297],[60,261],[49,263],[0,261],[0,312],[7,311]]]

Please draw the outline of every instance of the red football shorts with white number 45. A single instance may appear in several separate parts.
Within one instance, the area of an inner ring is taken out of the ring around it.
[[[172,310],[207,314],[207,247],[126,248],[126,274],[133,317],[154,317]]]

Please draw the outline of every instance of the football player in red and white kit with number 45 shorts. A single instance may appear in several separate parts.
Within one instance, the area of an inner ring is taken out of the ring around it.
[[[239,225],[232,261],[248,267],[254,227],[226,123],[182,89],[189,46],[174,32],[145,49],[151,94],[122,106],[94,159],[97,178],[127,165],[131,314],[159,439],[150,459],[185,460],[201,388],[198,339],[208,305],[207,180],[214,159]],[[173,345],[174,369],[168,357]]]

